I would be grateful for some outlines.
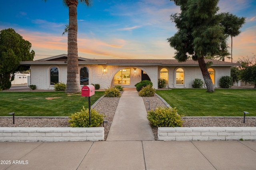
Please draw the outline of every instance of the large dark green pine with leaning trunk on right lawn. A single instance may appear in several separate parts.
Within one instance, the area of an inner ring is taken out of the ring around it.
[[[219,55],[225,45],[224,27],[220,25],[222,16],[217,14],[219,0],[171,0],[180,6],[180,14],[172,14],[171,20],[178,32],[168,42],[176,49],[175,58],[179,62],[192,58],[198,61],[207,91],[214,92],[214,85],[207,69],[205,56]]]

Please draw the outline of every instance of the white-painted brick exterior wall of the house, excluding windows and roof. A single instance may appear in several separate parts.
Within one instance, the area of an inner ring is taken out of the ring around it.
[[[37,89],[54,89],[54,85],[50,85],[50,69],[57,67],[59,69],[59,82],[67,82],[66,65],[31,65],[31,84],[36,85]],[[141,81],[141,70],[145,71],[153,83],[153,88],[158,88],[158,79],[160,78],[160,70],[166,68],[168,70],[169,88],[192,88],[194,79],[203,79],[202,72],[199,67],[160,67],[160,66],[106,66],[106,65],[79,65],[87,67],[89,71],[89,84],[100,84],[100,89],[107,89],[114,86],[114,75],[124,68],[130,68],[130,85],[122,85],[122,87],[135,88],[134,85]],[[176,85],[176,70],[182,68],[184,70],[184,84]],[[106,69],[104,73],[103,69]],[[136,69],[136,73],[134,70]],[[230,67],[212,67],[215,71],[215,87],[219,87],[219,80],[222,76],[230,76]],[[81,85],[82,87],[82,85]],[[206,87],[204,85],[204,87]]]

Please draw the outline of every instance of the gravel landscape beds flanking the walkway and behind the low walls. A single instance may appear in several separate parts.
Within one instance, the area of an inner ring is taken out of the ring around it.
[[[108,136],[111,123],[116,112],[119,97],[103,97],[102,100],[94,107],[99,113],[105,115],[104,123],[105,140]],[[166,107],[164,102],[157,97],[143,97],[145,108],[148,111],[155,109],[157,106]],[[149,102],[148,102],[149,101]],[[148,105],[149,104],[149,105]],[[242,117],[230,118],[182,118],[183,127],[256,127],[256,118],[246,117],[243,123]],[[0,127],[68,127],[68,118],[15,118],[15,124],[12,124],[12,117],[0,118]],[[157,128],[152,128],[155,140],[157,140]]]

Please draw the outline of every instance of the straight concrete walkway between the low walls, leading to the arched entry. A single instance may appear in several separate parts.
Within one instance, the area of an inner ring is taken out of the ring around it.
[[[137,91],[124,91],[120,97],[107,141],[154,140],[147,111]]]

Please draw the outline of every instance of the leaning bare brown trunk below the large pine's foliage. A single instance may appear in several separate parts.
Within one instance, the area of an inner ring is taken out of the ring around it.
[[[206,87],[207,87],[207,92],[214,92],[214,85],[212,83],[212,79],[211,79],[210,74],[207,70],[207,67],[206,67],[206,64],[204,62],[203,57],[200,57],[198,59],[198,64],[199,64],[199,67],[202,71],[202,75],[204,77],[204,82],[205,82]]]

